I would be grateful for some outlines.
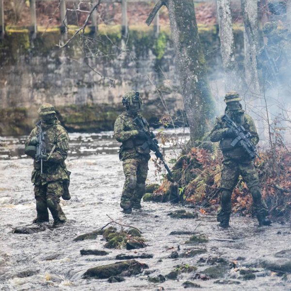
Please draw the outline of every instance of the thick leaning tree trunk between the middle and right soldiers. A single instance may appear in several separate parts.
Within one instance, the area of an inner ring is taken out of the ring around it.
[[[202,51],[193,0],[166,0],[176,61],[180,75],[184,109],[191,141],[199,141],[208,131],[214,115],[205,58]]]

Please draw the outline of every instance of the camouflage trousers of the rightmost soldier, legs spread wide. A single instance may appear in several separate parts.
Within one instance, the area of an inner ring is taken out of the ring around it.
[[[217,212],[217,220],[229,217],[231,212],[231,194],[236,186],[239,176],[242,176],[253,197],[253,206],[257,216],[267,216],[268,208],[261,197],[259,176],[253,161],[236,161],[227,159],[223,161],[221,174],[221,201]]]

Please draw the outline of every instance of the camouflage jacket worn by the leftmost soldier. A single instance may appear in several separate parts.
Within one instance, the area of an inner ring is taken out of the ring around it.
[[[56,119],[53,124],[41,122],[42,130],[46,132],[45,143],[47,154],[51,153],[47,161],[43,161],[43,174],[40,173],[40,162],[33,162],[32,183],[35,185],[44,185],[47,182],[69,179],[68,171],[65,165],[65,159],[69,149],[69,137],[66,130]],[[25,145],[30,145],[33,136],[37,136],[39,128],[32,129],[31,134],[27,138]]]

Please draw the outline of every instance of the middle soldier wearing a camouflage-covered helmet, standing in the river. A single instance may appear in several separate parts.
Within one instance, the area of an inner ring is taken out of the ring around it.
[[[123,161],[125,183],[121,195],[120,206],[125,213],[131,209],[141,208],[141,199],[145,194],[148,160],[150,159],[149,147],[142,148],[145,144],[146,133],[139,130],[133,119],[139,114],[142,99],[136,91],[130,91],[122,98],[126,111],[120,114],[115,121],[114,137],[121,142],[119,159]],[[143,123],[149,131],[145,118]]]

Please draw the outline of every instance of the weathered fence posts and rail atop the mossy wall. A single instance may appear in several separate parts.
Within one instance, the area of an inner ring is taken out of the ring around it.
[[[36,1],[51,1],[51,0],[30,0],[30,11],[31,11],[31,32],[32,36],[35,37],[37,33],[37,17],[36,17]],[[60,3],[60,16],[62,21],[66,23],[66,2],[72,2],[76,0],[61,0]],[[155,0],[156,2],[158,0]],[[194,0],[194,2],[215,2],[216,0]],[[82,0],[82,2],[97,3],[97,0]],[[127,7],[128,2],[153,2],[153,0],[101,0],[101,3],[120,3],[121,4],[121,25],[122,31],[124,34],[128,33],[128,17],[127,17]],[[94,11],[92,14],[91,26],[95,31],[97,31],[97,11]],[[156,35],[159,34],[160,30],[160,21],[159,21],[159,12],[157,13],[154,19],[154,30]],[[67,33],[65,25],[62,23],[61,31]],[[0,38],[3,38],[5,34],[5,23],[4,23],[4,0],[0,0]]]

